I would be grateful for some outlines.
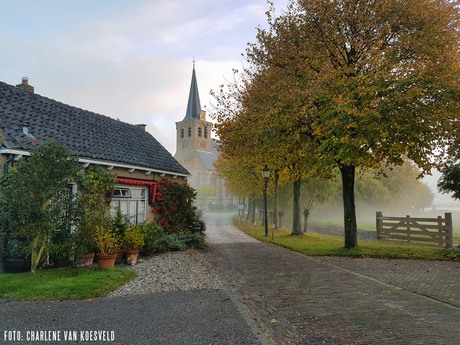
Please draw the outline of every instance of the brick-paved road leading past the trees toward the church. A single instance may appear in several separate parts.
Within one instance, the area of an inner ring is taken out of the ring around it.
[[[460,263],[311,258],[205,220],[208,257],[275,344],[460,344]]]

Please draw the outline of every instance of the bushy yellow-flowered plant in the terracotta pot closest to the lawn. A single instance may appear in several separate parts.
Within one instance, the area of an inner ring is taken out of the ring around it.
[[[96,254],[99,268],[113,268],[117,256],[116,250],[119,247],[119,240],[115,232],[109,228],[97,226],[94,242],[99,249],[99,253]]]

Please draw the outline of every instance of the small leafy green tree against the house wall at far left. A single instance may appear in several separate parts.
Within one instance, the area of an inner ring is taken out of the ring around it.
[[[6,238],[32,244],[32,270],[40,263],[53,233],[76,221],[76,203],[69,184],[80,166],[56,141],[31,151],[0,184],[1,228]]]

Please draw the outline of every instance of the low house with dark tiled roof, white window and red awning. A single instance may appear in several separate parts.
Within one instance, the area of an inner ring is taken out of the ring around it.
[[[148,132],[34,93],[28,79],[0,82],[0,175],[34,147],[52,139],[64,144],[83,167],[100,165],[117,175],[112,206],[132,222],[153,220],[156,183],[187,183],[189,172]]]

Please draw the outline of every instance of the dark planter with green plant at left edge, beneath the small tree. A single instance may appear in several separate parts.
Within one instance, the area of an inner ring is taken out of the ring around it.
[[[24,240],[11,239],[6,244],[3,270],[5,273],[30,271],[30,254],[32,247]]]

